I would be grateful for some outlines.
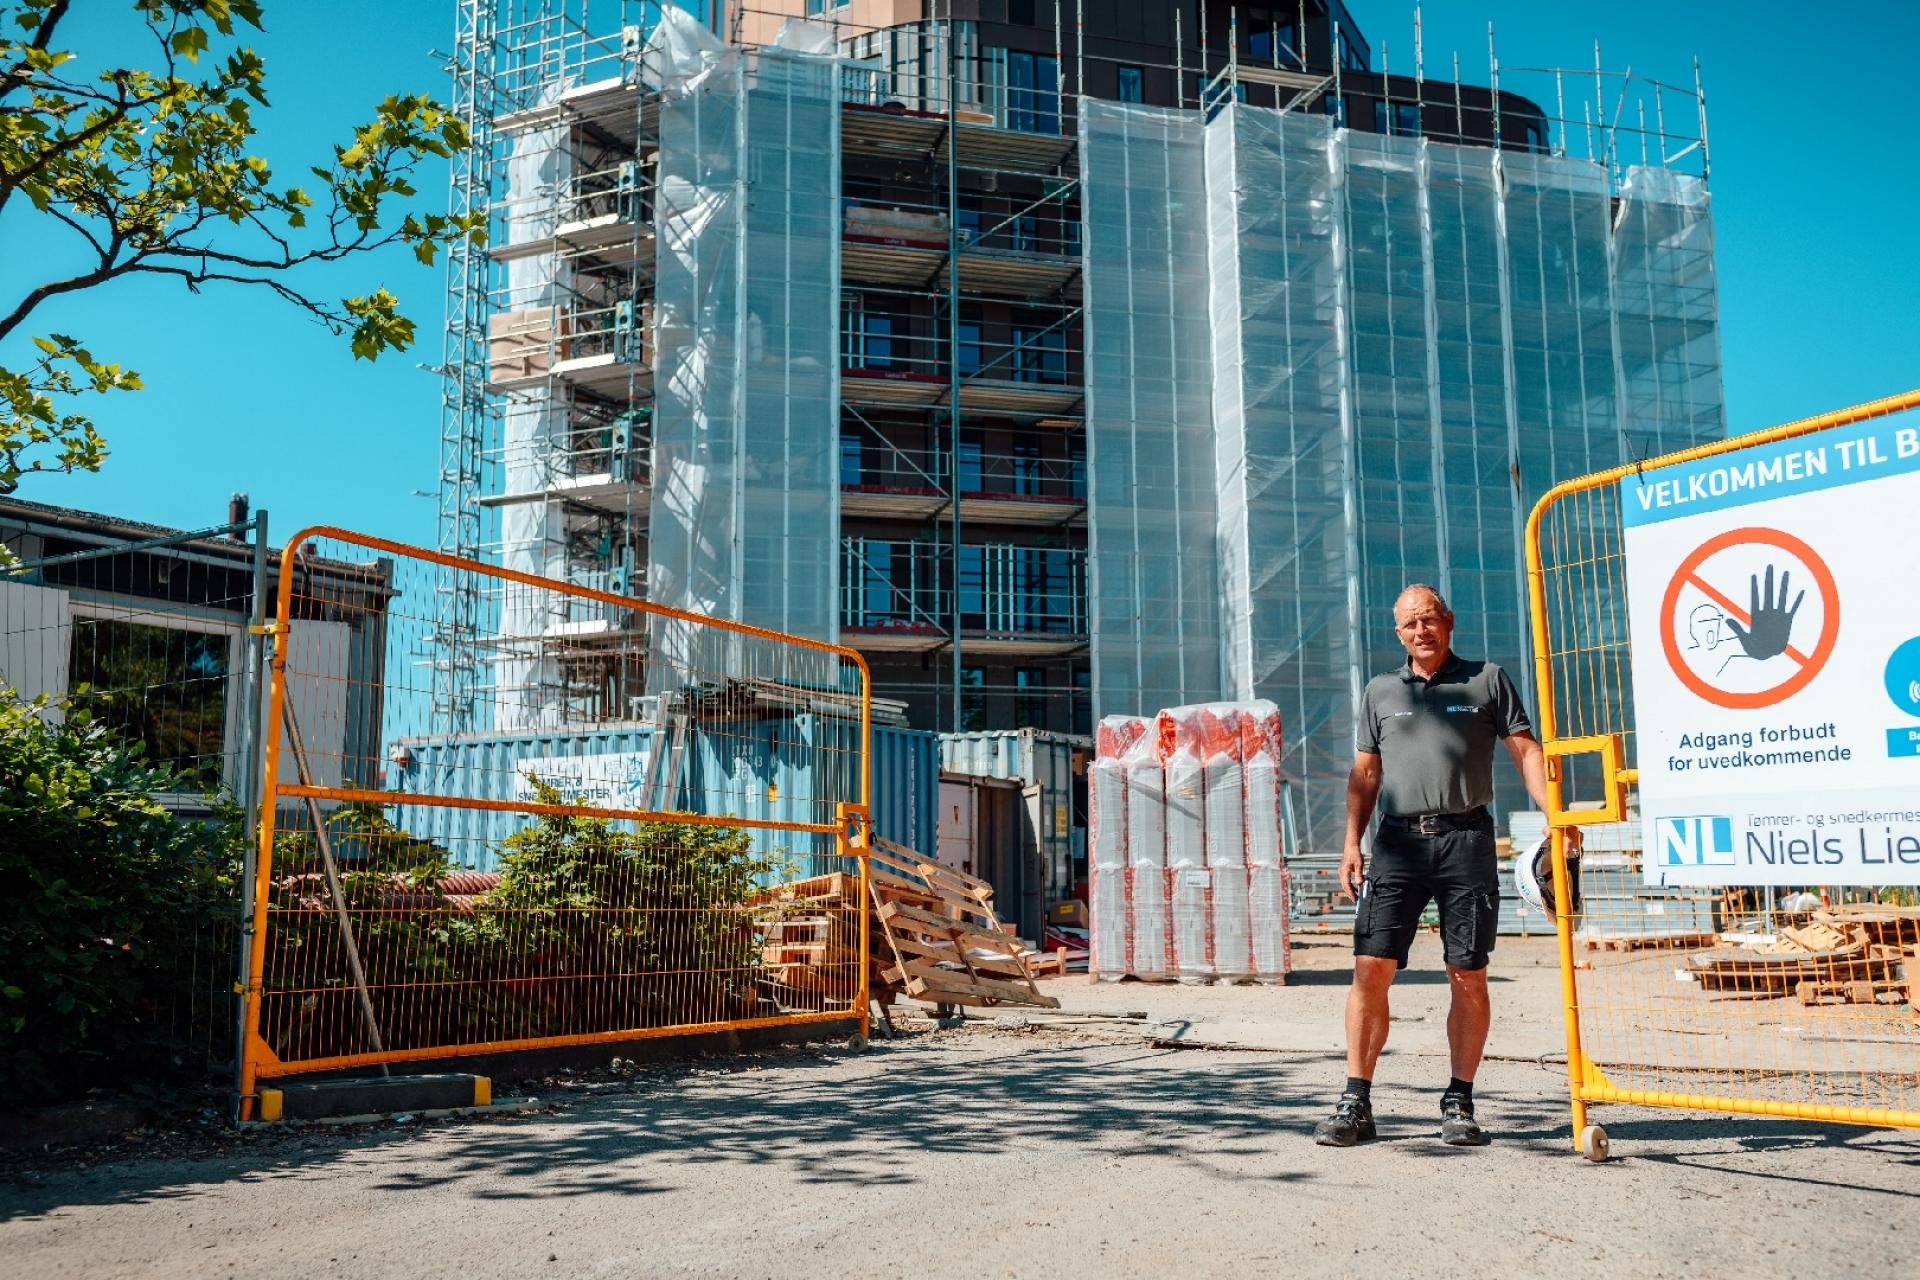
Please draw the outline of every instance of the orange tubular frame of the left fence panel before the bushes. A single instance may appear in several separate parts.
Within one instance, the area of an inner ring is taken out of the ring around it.
[[[465,798],[430,796],[430,794],[411,794],[396,791],[369,791],[359,787],[309,787],[300,783],[282,785],[278,779],[280,779],[280,729],[282,729],[280,716],[286,699],[286,645],[280,641],[288,633],[286,620],[292,614],[296,555],[303,543],[317,537],[328,537],[340,543],[365,547],[369,551],[378,551],[399,558],[482,574],[488,578],[518,583],[524,587],[555,591],[578,599],[595,601],[601,604],[611,604],[616,608],[645,612],[657,618],[672,618],[676,622],[687,622],[699,628],[732,631],[735,635],[774,641],[778,645],[791,645],[797,649],[810,649],[822,654],[849,660],[860,672],[860,731],[858,731],[860,800],[858,804],[847,804],[847,802],[837,804],[835,806],[837,821],[833,823],[795,823],[795,821],[728,818],[710,814],[614,810],[614,808],[593,808],[580,804],[486,800],[472,796]],[[668,608],[664,604],[612,595],[609,591],[597,591],[570,581],[538,578],[534,574],[522,574],[493,564],[482,564],[478,560],[461,560],[457,557],[442,555],[438,551],[428,551],[424,547],[409,547],[407,543],[397,543],[384,537],[372,537],[369,533],[355,533],[351,530],[342,530],[326,524],[317,524],[300,530],[298,533],[294,533],[294,537],[288,539],[286,547],[282,549],[276,610],[273,618],[275,620],[267,626],[267,631],[275,637],[273,658],[271,658],[273,679],[267,699],[267,733],[265,733],[265,756],[261,766],[261,794],[259,794],[261,819],[259,819],[257,856],[253,871],[253,917],[250,921],[250,935],[248,935],[246,1029],[244,1029],[242,1057],[240,1057],[242,1121],[252,1119],[253,1115],[253,1103],[257,1098],[255,1086],[259,1080],[278,1079],[296,1073],[340,1071],[340,1069],[372,1067],[386,1063],[434,1061],[434,1059],[463,1057],[472,1054],[499,1054],[499,1052],[536,1050],[536,1048],[566,1048],[578,1044],[611,1044],[620,1040],[653,1040],[664,1036],[687,1036],[687,1034],[716,1032],[716,1031],[787,1027],[787,1025],[826,1023],[826,1021],[858,1021],[860,1036],[864,1038],[868,1034],[868,1019],[872,1013],[870,1013],[868,929],[864,927],[864,912],[868,902],[868,877],[870,877],[866,850],[870,848],[870,814],[872,814],[872,781],[874,781],[872,779],[872,768],[874,768],[872,766],[872,672],[868,670],[866,658],[860,656],[858,651],[847,649],[843,645],[829,645],[826,641],[806,639],[801,635],[785,635],[781,631],[770,631],[766,628],[755,628],[743,622],[728,622],[724,618],[708,618],[680,608]],[[273,879],[273,842],[275,842],[276,808],[282,796],[361,802],[361,804],[426,804],[436,808],[468,808],[468,810],[492,810],[492,812],[511,812],[511,814],[605,818],[614,821],[662,821],[662,823],[682,823],[682,825],[724,825],[724,827],[760,829],[760,831],[808,831],[808,833],[833,835],[837,852],[843,858],[854,858],[860,865],[862,927],[856,929],[860,938],[860,961],[858,961],[858,977],[852,996],[852,1007],[829,1009],[818,1013],[787,1013],[780,1017],[726,1019],[726,1021],[680,1025],[680,1027],[647,1027],[632,1031],[603,1031],[586,1034],[540,1036],[524,1040],[490,1040],[474,1044],[388,1050],[382,1054],[349,1054],[338,1057],[303,1059],[300,1063],[284,1063],[271,1050],[271,1046],[267,1046],[267,1042],[261,1040],[259,1034],[261,998],[265,992],[265,963],[267,963],[267,900]]]

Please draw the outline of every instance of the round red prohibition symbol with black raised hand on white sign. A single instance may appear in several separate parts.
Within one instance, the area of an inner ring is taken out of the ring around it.
[[[1732,710],[1805,689],[1839,639],[1839,593],[1826,560],[1768,528],[1726,530],[1674,570],[1661,641],[1680,683]]]

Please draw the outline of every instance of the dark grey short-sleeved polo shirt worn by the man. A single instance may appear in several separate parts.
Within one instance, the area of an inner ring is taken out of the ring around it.
[[[1494,802],[1494,743],[1532,731],[1498,664],[1448,654],[1432,679],[1411,660],[1369,679],[1354,747],[1380,758],[1382,814],[1463,814]]]

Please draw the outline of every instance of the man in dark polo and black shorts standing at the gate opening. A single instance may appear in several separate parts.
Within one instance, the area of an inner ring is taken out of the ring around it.
[[[1394,601],[1405,645],[1400,670],[1375,676],[1359,699],[1354,770],[1346,781],[1346,854],[1340,887],[1354,917],[1354,986],[1346,996],[1346,1090],[1313,1130],[1321,1146],[1375,1136],[1373,1067],[1386,1046],[1386,988],[1407,967],[1407,948],[1428,900],[1440,902],[1440,936],[1452,1007],[1446,1038],[1453,1079],[1440,1094],[1440,1138],[1480,1146],[1473,1077],[1486,1048],[1486,961],[1500,917],[1494,862],[1494,741],[1507,745],[1526,794],[1546,810],[1546,764],[1513,681],[1492,662],[1453,652],[1453,614],[1440,593],[1415,583]],[[1375,806],[1373,867],[1359,841]],[[1578,827],[1569,829],[1572,846]]]

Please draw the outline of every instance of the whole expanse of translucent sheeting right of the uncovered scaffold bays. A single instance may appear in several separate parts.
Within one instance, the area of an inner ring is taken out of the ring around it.
[[[1615,190],[1590,161],[1246,104],[1202,125],[1087,102],[1081,155],[1094,714],[1215,687],[1271,699],[1300,844],[1336,854],[1359,689],[1404,660],[1400,589],[1440,587],[1457,649],[1532,700],[1532,503],[1563,478],[1726,434],[1705,186],[1632,167]],[[1181,484],[1202,468],[1212,510]],[[1156,557],[1190,566],[1202,599],[1142,572]],[[1181,816],[1204,770],[1165,762],[1175,879],[1206,869]],[[1496,804],[1521,802],[1500,760]],[[1271,902],[1283,883],[1252,865],[1248,900]],[[1185,892],[1198,902],[1200,883]]]

